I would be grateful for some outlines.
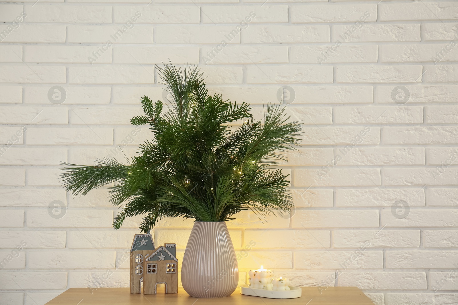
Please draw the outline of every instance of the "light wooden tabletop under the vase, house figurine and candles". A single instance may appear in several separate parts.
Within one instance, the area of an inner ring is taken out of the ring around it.
[[[158,289],[159,290],[159,289]],[[320,294],[321,292],[321,294]],[[268,299],[240,294],[240,288],[226,298],[197,299],[189,296],[181,288],[177,294],[130,294],[129,288],[71,288],[60,294],[46,305],[374,305],[362,291],[356,287],[302,287],[302,297],[297,299]]]

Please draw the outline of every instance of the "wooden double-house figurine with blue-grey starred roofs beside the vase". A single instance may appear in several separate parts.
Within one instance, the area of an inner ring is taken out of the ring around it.
[[[131,294],[156,294],[164,284],[166,294],[178,293],[176,244],[154,248],[151,234],[136,234],[131,247]]]

